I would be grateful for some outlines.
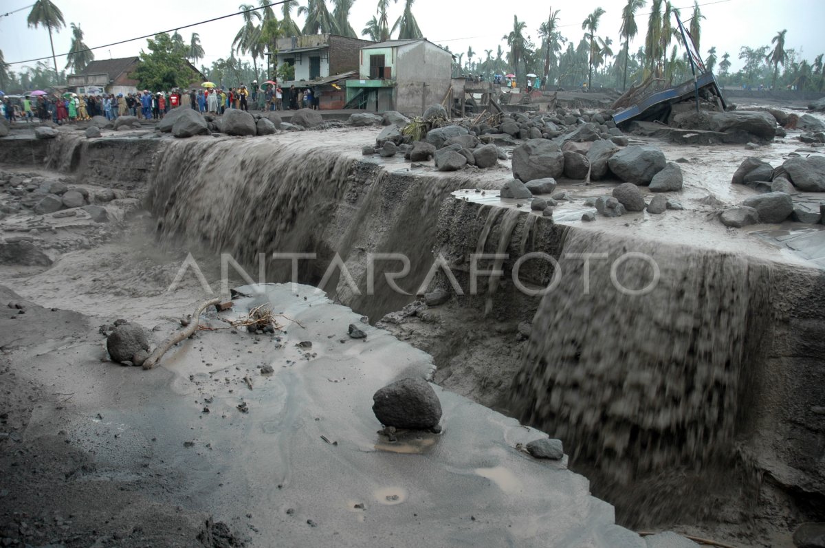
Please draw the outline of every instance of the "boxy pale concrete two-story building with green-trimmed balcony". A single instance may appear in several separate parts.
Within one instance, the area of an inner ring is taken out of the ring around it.
[[[347,80],[347,106],[422,115],[450,91],[452,62],[453,54],[426,38],[366,45],[359,78]]]

